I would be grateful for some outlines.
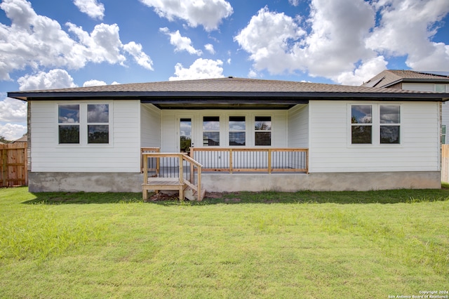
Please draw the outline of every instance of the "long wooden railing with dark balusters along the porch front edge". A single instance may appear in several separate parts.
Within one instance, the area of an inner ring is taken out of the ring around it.
[[[190,157],[203,171],[309,172],[307,148],[191,147]]]

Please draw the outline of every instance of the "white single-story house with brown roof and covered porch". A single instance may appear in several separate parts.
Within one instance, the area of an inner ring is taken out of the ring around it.
[[[441,187],[449,93],[229,77],[8,96],[28,102],[32,192],[140,192],[169,176],[143,178],[146,147],[190,152],[210,192]]]

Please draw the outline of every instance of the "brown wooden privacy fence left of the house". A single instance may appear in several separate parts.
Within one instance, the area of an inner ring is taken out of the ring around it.
[[[0,145],[0,187],[28,185],[27,142]]]

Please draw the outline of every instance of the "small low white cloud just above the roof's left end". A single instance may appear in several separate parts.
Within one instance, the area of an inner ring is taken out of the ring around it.
[[[51,69],[49,72],[26,74],[18,79],[20,91],[76,87],[72,76],[65,69]]]

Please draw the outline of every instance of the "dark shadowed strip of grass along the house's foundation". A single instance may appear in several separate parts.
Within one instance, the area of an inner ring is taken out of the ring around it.
[[[42,192],[33,193],[35,199],[23,204],[120,204],[143,202],[141,193]],[[164,206],[213,204],[398,204],[422,201],[449,201],[449,189],[441,190],[380,190],[342,192],[229,192],[207,193],[203,201],[168,200],[147,201]]]

